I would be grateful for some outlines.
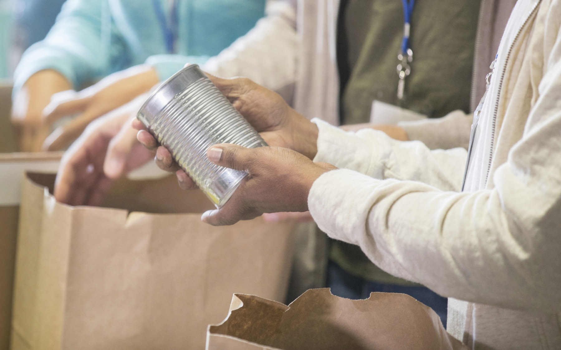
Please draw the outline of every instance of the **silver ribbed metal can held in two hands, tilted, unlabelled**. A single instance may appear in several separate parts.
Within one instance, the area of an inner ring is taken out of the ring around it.
[[[217,208],[226,204],[247,172],[213,164],[206,150],[217,143],[267,146],[196,64],[183,68],[158,87],[137,118]]]

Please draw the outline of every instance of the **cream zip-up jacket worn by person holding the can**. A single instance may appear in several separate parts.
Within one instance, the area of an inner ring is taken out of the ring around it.
[[[561,348],[561,0],[519,0],[467,152],[316,120],[319,227],[450,297],[474,349]]]

